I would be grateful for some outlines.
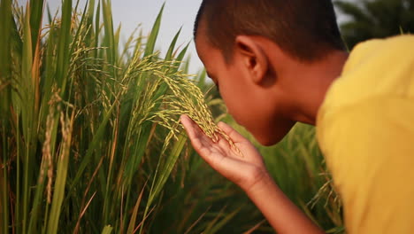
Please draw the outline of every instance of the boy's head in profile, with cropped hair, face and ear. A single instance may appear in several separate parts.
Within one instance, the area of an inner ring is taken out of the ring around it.
[[[344,48],[331,0],[203,0],[194,36],[229,112],[262,144],[301,121],[283,84],[295,66]]]

